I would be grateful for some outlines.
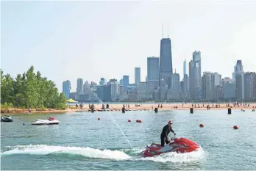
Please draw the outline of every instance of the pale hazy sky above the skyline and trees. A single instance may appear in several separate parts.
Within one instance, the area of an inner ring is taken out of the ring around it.
[[[202,72],[232,77],[237,59],[256,71],[256,1],[1,1],[1,68],[15,77],[34,65],[60,91],[77,79],[134,82],[160,56],[162,23],[173,68],[201,51]],[[188,69],[187,69],[188,70]]]

